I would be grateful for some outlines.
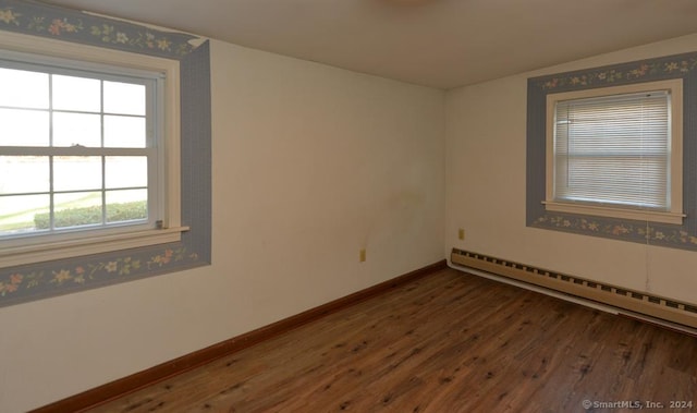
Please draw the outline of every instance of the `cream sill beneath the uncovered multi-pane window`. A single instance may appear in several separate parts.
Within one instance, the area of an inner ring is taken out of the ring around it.
[[[102,235],[0,250],[0,268],[181,241],[188,227]]]

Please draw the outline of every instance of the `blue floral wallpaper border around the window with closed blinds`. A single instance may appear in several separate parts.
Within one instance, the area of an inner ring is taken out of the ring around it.
[[[621,84],[683,78],[682,226],[548,212],[545,199],[546,113],[548,94]],[[697,53],[659,57],[602,68],[528,78],[527,226],[576,234],[697,251]]]

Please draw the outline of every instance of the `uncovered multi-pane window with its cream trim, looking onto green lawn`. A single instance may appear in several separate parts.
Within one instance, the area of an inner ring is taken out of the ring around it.
[[[179,241],[179,65],[32,51],[0,50],[0,267]]]

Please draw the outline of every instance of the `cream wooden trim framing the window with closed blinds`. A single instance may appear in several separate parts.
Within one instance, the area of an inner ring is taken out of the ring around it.
[[[671,210],[651,211],[616,206],[564,203],[554,199],[554,108],[560,100],[631,94],[647,90],[671,90]],[[564,92],[547,95],[546,201],[549,211],[592,215],[620,219],[682,224],[683,218],[683,80],[645,82],[623,86]]]

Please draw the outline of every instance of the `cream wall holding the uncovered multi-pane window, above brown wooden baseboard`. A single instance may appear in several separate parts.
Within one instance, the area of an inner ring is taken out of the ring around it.
[[[213,264],[0,308],[0,412],[444,258],[443,92],[211,46]]]

